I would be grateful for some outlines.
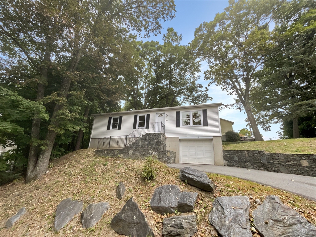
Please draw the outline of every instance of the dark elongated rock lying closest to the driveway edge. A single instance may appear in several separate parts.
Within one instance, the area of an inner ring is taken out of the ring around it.
[[[184,167],[180,170],[180,179],[202,190],[213,191],[214,189],[213,181],[207,177],[206,173],[191,167]]]

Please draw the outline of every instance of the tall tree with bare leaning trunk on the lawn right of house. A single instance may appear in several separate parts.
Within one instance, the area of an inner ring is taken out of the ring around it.
[[[256,141],[263,141],[251,106],[255,73],[269,51],[269,24],[279,9],[279,1],[229,1],[225,12],[213,21],[202,23],[195,31],[191,47],[210,68],[205,80],[215,83],[229,95],[237,95],[234,105],[246,111]],[[230,106],[230,105],[229,105]]]

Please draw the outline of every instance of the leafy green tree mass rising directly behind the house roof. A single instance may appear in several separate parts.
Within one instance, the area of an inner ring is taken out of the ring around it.
[[[125,110],[150,109],[205,103],[211,98],[207,88],[197,83],[199,61],[187,46],[180,46],[182,39],[173,28],[159,42],[134,42],[134,63],[123,77]]]

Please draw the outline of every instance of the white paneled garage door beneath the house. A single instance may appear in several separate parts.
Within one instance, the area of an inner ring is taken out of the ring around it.
[[[181,163],[214,165],[213,140],[180,140]]]

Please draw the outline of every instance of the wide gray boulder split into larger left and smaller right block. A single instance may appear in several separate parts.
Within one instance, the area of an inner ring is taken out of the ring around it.
[[[152,210],[162,215],[192,211],[197,200],[197,192],[180,192],[177,185],[162,185],[155,189],[150,200]]]

